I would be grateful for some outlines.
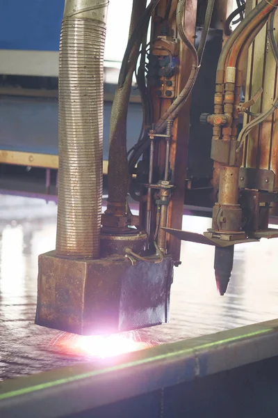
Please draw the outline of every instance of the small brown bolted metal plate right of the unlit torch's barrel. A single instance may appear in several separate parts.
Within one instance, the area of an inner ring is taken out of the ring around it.
[[[275,173],[272,170],[241,168],[238,185],[240,189],[275,191]]]

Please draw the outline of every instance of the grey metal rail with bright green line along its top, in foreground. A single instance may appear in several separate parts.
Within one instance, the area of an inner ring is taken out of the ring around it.
[[[278,319],[8,380],[0,387],[0,414],[52,418],[92,410],[275,357],[277,347]]]

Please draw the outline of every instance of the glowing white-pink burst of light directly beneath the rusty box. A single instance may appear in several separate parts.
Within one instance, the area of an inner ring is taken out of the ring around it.
[[[144,350],[151,345],[136,341],[135,332],[125,332],[109,336],[79,336],[63,333],[51,343],[51,346],[67,355],[106,358]]]

